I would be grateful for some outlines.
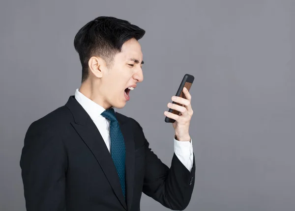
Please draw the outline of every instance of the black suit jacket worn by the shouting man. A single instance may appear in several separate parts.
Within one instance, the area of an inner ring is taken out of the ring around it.
[[[139,211],[142,192],[172,210],[186,208],[195,158],[191,172],[175,154],[168,168],[137,121],[118,112],[116,117],[126,146],[126,201],[101,134],[70,96],[26,133],[20,166],[27,211]]]

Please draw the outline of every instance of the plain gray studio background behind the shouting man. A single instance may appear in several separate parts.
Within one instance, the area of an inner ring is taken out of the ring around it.
[[[144,81],[119,112],[170,166],[164,110],[185,73],[196,184],[187,211],[295,210],[295,1],[6,0],[0,3],[0,210],[24,211],[19,159],[29,124],[80,86],[73,39],[97,16],[126,19]],[[143,211],[165,211],[143,195]]]

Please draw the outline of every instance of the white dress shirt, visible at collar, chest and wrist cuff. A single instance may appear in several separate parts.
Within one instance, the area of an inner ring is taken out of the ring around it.
[[[91,120],[96,125],[98,131],[100,132],[103,140],[105,141],[107,148],[110,151],[111,141],[110,141],[110,121],[100,115],[105,109],[102,106],[94,103],[92,100],[87,98],[79,89],[76,89],[75,99],[78,103],[86,110],[89,114]],[[113,107],[114,108],[114,107]],[[115,110],[115,108],[114,108]],[[116,112],[116,110],[115,110]],[[193,167],[193,146],[192,140],[190,141],[178,141],[174,138],[174,152],[181,163],[191,171]]]

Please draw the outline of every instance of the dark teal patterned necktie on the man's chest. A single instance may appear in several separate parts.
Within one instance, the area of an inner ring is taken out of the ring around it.
[[[101,115],[110,123],[110,136],[111,136],[111,156],[116,166],[122,192],[125,198],[125,142],[123,134],[119,128],[118,120],[115,116],[115,110],[113,108],[107,109],[101,113]]]

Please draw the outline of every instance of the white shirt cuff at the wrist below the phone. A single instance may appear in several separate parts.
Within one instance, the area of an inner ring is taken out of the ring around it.
[[[193,167],[193,144],[190,141],[178,141],[174,138],[174,153],[180,162],[191,172]]]

